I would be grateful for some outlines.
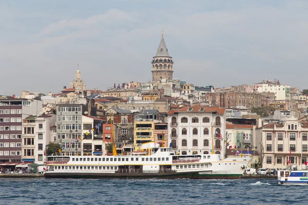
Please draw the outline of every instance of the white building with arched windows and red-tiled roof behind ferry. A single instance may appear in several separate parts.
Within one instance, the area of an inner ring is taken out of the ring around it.
[[[225,109],[194,105],[170,110],[168,141],[181,154],[225,153]],[[212,137],[213,136],[213,137]]]

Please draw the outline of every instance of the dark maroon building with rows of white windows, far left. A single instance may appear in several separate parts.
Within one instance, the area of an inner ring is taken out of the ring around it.
[[[41,111],[41,100],[14,97],[0,99],[0,162],[22,162],[23,120]]]

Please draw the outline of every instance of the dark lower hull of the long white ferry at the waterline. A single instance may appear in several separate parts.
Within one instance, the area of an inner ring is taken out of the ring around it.
[[[164,179],[239,179],[242,174],[199,174],[199,172],[171,172],[171,173],[45,173],[46,178],[164,178]]]

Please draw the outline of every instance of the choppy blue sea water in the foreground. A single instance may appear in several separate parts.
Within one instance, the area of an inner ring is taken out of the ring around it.
[[[277,179],[0,178],[0,204],[308,204]]]

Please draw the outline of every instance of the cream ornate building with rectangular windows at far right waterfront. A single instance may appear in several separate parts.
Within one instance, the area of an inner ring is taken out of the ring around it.
[[[298,120],[292,116],[257,128],[258,151],[264,156],[262,167],[286,168],[289,159],[291,165],[304,165],[308,158],[307,135],[308,121],[305,117]]]

